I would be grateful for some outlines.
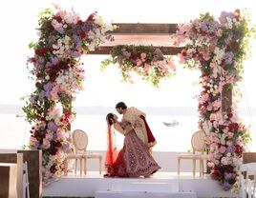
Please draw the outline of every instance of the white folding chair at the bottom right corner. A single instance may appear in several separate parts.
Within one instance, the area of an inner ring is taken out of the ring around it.
[[[239,195],[242,198],[256,197],[256,163],[248,163],[240,166],[239,169]]]

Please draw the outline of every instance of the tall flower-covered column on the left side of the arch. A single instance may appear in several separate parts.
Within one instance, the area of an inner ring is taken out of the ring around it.
[[[39,14],[39,39],[30,44],[34,55],[28,60],[35,90],[23,107],[32,124],[30,148],[43,151],[44,185],[63,174],[63,162],[72,149],[71,102],[84,79],[79,58],[113,39],[105,35],[113,26],[96,13],[83,21],[75,12],[55,9]]]

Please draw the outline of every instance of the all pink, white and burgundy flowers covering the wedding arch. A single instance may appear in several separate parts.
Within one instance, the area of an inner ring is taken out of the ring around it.
[[[66,154],[72,147],[70,125],[74,94],[82,89],[84,70],[81,55],[95,50],[102,42],[112,40],[106,34],[114,30],[96,13],[82,21],[74,12],[56,9],[39,15],[39,40],[31,43],[33,57],[28,63],[35,90],[28,96],[23,110],[32,123],[30,148],[43,150],[43,183],[50,184],[64,170]],[[208,13],[188,24],[179,25],[173,39],[181,45],[181,63],[189,69],[201,69],[203,90],[198,96],[200,125],[207,134],[208,167],[213,179],[225,190],[237,180],[249,132],[231,105],[235,86],[242,80],[243,60],[248,37],[245,18],[239,10],[223,12],[219,20]],[[171,76],[175,66],[160,48],[115,47],[103,68],[118,63],[124,80],[136,71],[144,80],[157,86],[161,78]],[[61,105],[63,109],[58,109]]]

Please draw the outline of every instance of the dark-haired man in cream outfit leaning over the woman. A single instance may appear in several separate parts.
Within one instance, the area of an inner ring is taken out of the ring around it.
[[[122,114],[122,122],[131,123],[139,139],[148,147],[154,147],[157,142],[151,129],[146,122],[146,114],[136,108],[127,108],[125,103],[119,102],[116,105],[117,112]]]

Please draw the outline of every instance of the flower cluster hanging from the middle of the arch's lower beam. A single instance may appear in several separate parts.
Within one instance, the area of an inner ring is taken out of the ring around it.
[[[101,62],[101,69],[118,64],[123,81],[132,82],[130,72],[142,75],[142,79],[158,87],[160,79],[173,76],[176,67],[169,57],[163,56],[160,48],[145,46],[116,46],[111,58]]]

